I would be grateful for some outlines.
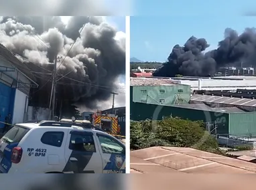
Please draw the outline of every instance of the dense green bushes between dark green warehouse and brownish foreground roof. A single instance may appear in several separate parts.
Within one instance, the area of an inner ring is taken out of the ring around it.
[[[152,146],[193,147],[218,153],[218,143],[202,128],[202,121],[167,118],[163,121],[131,121],[131,149]]]

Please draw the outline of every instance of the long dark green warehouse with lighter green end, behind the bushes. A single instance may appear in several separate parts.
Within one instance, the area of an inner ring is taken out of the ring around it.
[[[211,108],[206,105],[153,105],[133,103],[131,120],[162,120],[180,117],[191,121],[203,121],[206,130],[225,137],[256,137],[256,112],[246,112],[237,107]]]

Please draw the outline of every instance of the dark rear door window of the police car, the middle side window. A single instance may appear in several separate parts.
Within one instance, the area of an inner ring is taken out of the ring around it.
[[[85,151],[95,153],[95,143],[92,133],[74,131],[71,134],[69,149],[73,151]]]

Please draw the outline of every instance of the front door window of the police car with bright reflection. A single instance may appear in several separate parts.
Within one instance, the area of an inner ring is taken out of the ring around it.
[[[107,137],[106,135],[99,135],[99,141],[101,143],[101,149],[106,154],[120,154],[124,153],[125,147],[114,138]]]

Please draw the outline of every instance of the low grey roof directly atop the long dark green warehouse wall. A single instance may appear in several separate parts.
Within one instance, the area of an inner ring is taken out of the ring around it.
[[[204,103],[191,103],[191,104],[180,104],[180,105],[173,105],[174,107],[182,107],[188,109],[200,109],[204,111],[216,111],[221,113],[240,113],[245,112],[238,107],[210,107],[205,105]]]

